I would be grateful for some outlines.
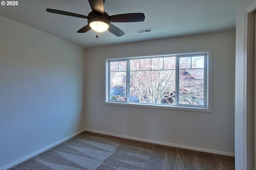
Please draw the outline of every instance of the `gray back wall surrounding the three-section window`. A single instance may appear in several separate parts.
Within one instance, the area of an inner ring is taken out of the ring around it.
[[[86,49],[86,129],[234,155],[235,38],[228,31]],[[212,113],[104,105],[104,57],[206,48]]]

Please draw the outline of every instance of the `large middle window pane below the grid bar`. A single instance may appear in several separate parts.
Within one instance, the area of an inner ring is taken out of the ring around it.
[[[175,104],[175,70],[130,71],[130,102]]]

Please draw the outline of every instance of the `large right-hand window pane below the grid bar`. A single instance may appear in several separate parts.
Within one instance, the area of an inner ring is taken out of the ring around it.
[[[204,69],[180,69],[179,104],[204,105]]]

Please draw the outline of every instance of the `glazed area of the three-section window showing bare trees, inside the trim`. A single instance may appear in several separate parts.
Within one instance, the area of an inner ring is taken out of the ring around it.
[[[110,100],[204,105],[204,62],[205,55],[110,61]]]

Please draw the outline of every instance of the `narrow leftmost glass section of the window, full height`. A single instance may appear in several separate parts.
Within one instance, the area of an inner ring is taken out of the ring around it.
[[[110,62],[110,100],[126,101],[127,61]]]

